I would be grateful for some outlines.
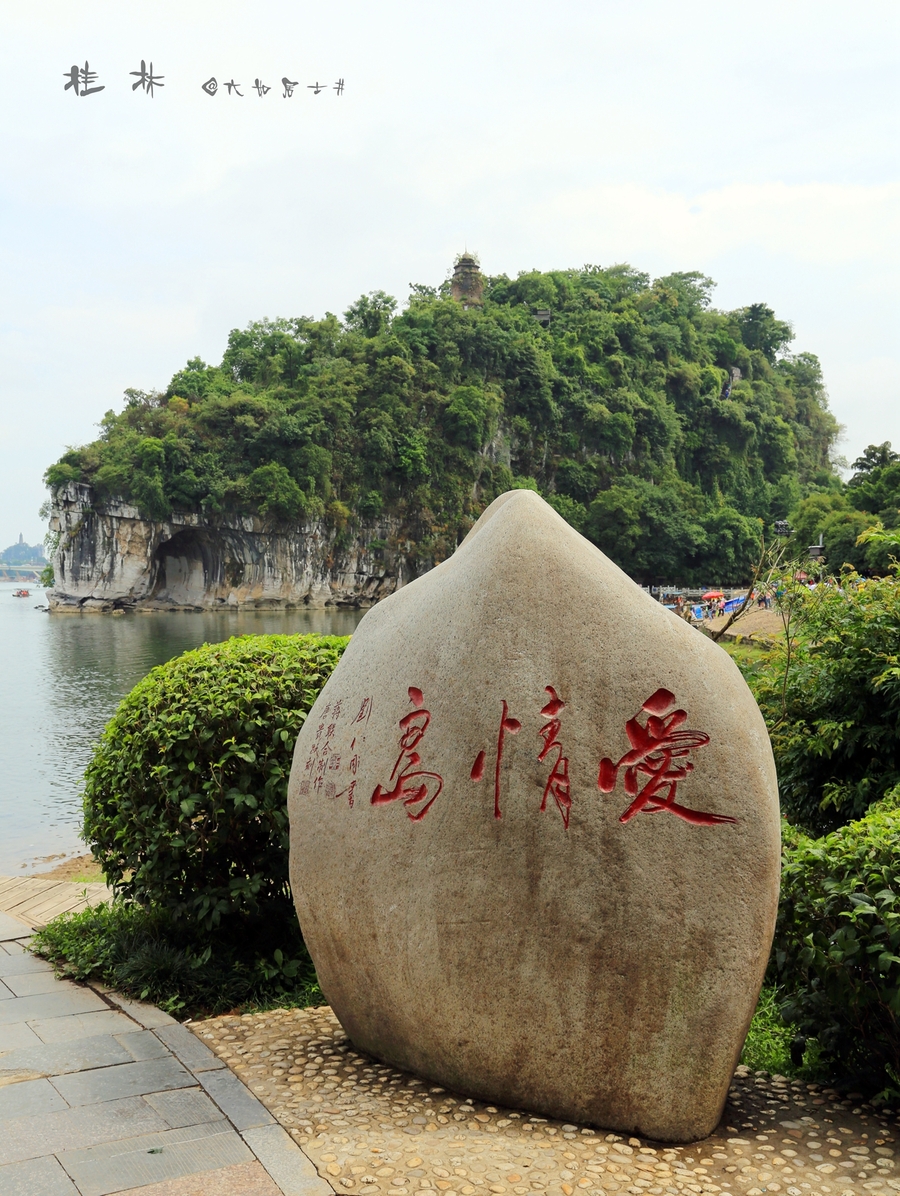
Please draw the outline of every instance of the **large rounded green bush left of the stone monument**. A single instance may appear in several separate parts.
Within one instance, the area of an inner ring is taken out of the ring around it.
[[[245,635],[154,669],[85,774],[85,838],[118,893],[210,929],[295,922],[287,782],[348,637]]]

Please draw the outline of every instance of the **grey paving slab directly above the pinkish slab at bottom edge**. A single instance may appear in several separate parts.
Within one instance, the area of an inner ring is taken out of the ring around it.
[[[66,1151],[59,1155],[81,1196],[108,1196],[121,1191],[122,1183],[130,1188],[146,1186],[252,1159],[250,1148],[226,1121],[170,1129],[86,1151]]]

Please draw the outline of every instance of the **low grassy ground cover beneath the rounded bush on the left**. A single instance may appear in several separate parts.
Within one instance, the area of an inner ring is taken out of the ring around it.
[[[198,932],[117,901],[54,919],[32,951],[60,976],[103,981],[178,1018],[324,1003],[296,922],[229,920]]]

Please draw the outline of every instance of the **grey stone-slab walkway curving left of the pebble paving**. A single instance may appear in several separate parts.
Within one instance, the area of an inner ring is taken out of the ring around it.
[[[53,902],[78,908],[72,890],[85,889],[38,885],[50,887],[0,890],[0,910],[37,901],[30,923],[0,911],[2,1196],[333,1196],[186,1026],[103,986],[57,980],[26,950]]]

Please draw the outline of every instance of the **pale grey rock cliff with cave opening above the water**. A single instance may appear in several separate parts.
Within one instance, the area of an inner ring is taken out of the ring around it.
[[[51,610],[363,606],[416,572],[397,520],[338,532],[325,523],[270,530],[251,515],[195,512],[153,523],[71,482],[54,498]]]

